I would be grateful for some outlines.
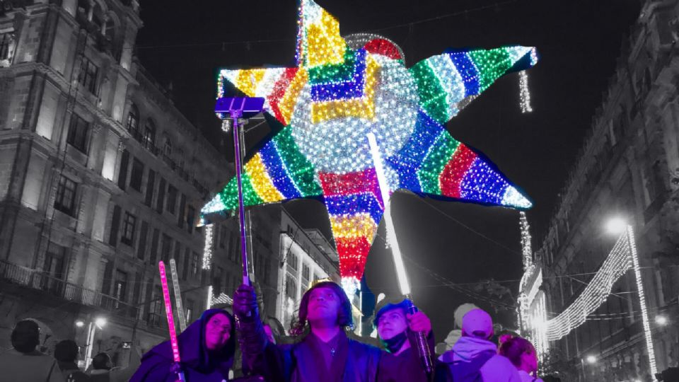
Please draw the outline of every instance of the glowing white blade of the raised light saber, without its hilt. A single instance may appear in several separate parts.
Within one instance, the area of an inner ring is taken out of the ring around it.
[[[396,267],[396,275],[398,277],[398,287],[401,294],[410,295],[410,284],[405,273],[405,265],[403,265],[403,258],[401,257],[401,250],[398,248],[398,241],[396,241],[396,233],[394,231],[394,223],[391,220],[391,213],[389,209],[389,183],[384,175],[384,168],[382,166],[382,157],[380,155],[379,146],[375,134],[368,133],[368,144],[370,144],[370,154],[373,156],[373,163],[375,164],[375,172],[377,173],[377,181],[380,184],[380,193],[384,203],[384,223],[387,228],[387,243],[391,247],[391,253],[394,257],[394,265]]]

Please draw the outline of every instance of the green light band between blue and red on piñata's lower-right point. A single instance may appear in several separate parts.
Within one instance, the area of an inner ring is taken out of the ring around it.
[[[443,130],[439,137],[436,137],[436,141],[431,145],[436,150],[429,151],[426,154],[422,167],[417,170],[417,178],[419,178],[422,191],[429,194],[442,195],[439,175],[441,175],[443,168],[446,167],[448,161],[455,154],[458,146],[460,146],[460,142],[453,139],[446,130]]]

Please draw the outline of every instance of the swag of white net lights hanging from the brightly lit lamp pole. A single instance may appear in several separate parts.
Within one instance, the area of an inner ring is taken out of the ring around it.
[[[596,311],[601,304],[606,301],[613,289],[613,284],[622,277],[627,270],[634,270],[634,277],[637,281],[637,291],[639,293],[639,306],[642,310],[642,325],[644,328],[644,338],[649,354],[649,366],[651,375],[655,375],[656,356],[653,347],[653,337],[651,337],[651,325],[649,323],[648,306],[646,305],[646,295],[644,294],[644,284],[642,273],[639,269],[639,256],[637,255],[637,244],[634,240],[634,231],[628,224],[621,225],[620,221],[611,221],[608,230],[613,233],[616,228],[618,232],[622,228],[622,235],[617,239],[608,257],[596,272],[591,282],[587,284],[584,291],[574,303],[571,304],[559,316],[547,321],[546,332],[550,341],[559,340],[567,335],[571,330],[582,325],[587,316]]]

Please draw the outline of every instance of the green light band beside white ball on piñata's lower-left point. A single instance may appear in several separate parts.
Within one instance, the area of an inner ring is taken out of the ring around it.
[[[290,178],[303,197],[321,195],[323,190],[316,183],[315,169],[311,162],[299,151],[291,132],[292,127],[288,125],[274,137],[273,141],[276,144],[278,154],[281,156]]]

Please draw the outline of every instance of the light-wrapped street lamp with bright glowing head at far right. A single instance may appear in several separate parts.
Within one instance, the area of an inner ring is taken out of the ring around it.
[[[627,238],[627,246],[629,247],[629,255],[632,260],[632,268],[634,268],[634,277],[637,280],[637,291],[639,292],[639,306],[642,308],[642,324],[644,328],[644,337],[646,337],[646,349],[649,352],[649,366],[651,368],[651,376],[656,375],[656,355],[653,349],[653,337],[651,337],[651,325],[649,324],[649,312],[646,306],[646,296],[644,295],[644,284],[642,282],[642,271],[639,267],[639,256],[637,255],[637,243],[634,240],[634,231],[632,226],[622,219],[620,216],[615,216],[606,222],[606,230],[609,233],[625,235]],[[657,322],[657,319],[656,319]]]

